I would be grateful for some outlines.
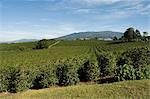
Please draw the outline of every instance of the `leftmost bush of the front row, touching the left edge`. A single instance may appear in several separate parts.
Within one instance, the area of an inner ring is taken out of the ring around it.
[[[16,93],[30,87],[29,76],[19,66],[6,67],[0,73],[0,91]]]

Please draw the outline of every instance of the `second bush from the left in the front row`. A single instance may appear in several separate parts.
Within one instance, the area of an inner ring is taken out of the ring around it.
[[[32,88],[47,88],[57,83],[56,70],[51,66],[39,66],[32,82]]]

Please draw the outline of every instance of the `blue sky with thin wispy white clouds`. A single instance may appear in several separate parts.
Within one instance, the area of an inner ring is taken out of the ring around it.
[[[79,31],[150,32],[149,0],[1,0],[0,41]]]

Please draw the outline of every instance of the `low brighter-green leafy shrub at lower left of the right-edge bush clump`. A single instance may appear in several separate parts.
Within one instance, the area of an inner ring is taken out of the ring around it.
[[[133,68],[132,65],[125,64],[123,66],[120,66],[117,69],[116,77],[118,78],[119,81],[134,80],[134,79],[136,79],[135,69]]]

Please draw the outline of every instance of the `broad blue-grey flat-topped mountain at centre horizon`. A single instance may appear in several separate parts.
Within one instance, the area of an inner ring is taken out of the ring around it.
[[[100,31],[100,32],[78,32],[78,33],[72,33],[66,36],[59,37],[57,39],[60,40],[75,40],[75,39],[93,39],[95,37],[99,39],[111,39],[114,36],[117,38],[120,38],[123,35],[121,32],[112,32],[112,31]]]

